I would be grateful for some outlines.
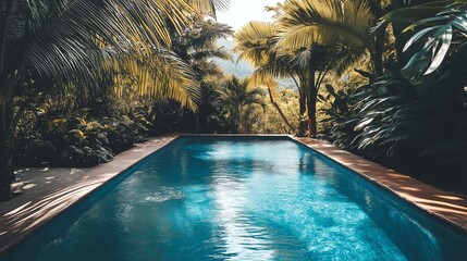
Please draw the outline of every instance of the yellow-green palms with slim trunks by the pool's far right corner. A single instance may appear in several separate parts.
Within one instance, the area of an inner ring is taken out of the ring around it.
[[[323,80],[331,72],[342,74],[370,48],[365,38],[373,22],[370,9],[364,1],[285,1],[273,11],[274,23],[250,22],[235,34],[235,50],[257,69],[256,85],[269,86],[271,77],[294,78],[300,115],[307,112],[308,135],[316,135]]]

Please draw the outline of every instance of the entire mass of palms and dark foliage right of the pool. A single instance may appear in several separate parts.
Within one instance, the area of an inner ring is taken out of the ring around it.
[[[273,23],[250,22],[238,30],[236,51],[256,67],[253,85],[271,89],[271,77],[295,79],[310,133],[320,130],[318,137],[420,178],[462,187],[466,7],[288,0],[269,8]]]

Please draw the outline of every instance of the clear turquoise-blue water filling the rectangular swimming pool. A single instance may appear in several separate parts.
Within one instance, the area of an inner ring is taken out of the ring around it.
[[[465,257],[465,233],[287,138],[183,137],[0,259]]]

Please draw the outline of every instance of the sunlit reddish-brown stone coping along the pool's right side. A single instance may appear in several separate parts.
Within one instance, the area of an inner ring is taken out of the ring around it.
[[[333,145],[311,138],[292,138],[385,188],[428,214],[467,233],[467,201],[458,195],[443,191],[348,151],[341,150]]]

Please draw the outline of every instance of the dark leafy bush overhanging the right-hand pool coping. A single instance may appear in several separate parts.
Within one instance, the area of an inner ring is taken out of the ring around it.
[[[327,139],[418,178],[465,186],[467,92],[459,80],[464,74],[456,75],[421,96],[401,76],[340,92],[335,101],[345,101],[340,107],[348,110],[336,110],[335,103],[328,109]]]

